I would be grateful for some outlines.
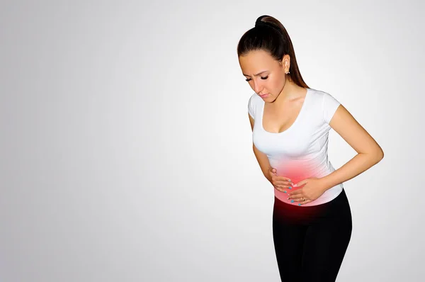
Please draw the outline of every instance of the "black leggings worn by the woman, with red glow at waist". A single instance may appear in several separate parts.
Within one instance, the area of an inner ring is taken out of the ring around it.
[[[273,242],[281,281],[335,281],[351,238],[344,189],[334,200],[300,207],[274,199]]]

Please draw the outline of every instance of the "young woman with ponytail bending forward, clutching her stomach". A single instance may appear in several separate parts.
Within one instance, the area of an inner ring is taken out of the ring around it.
[[[310,89],[283,25],[260,16],[237,46],[255,94],[253,150],[274,189],[273,242],[282,281],[335,281],[351,238],[343,182],[380,162],[380,146],[333,96]],[[327,156],[333,128],[358,154],[339,169]]]

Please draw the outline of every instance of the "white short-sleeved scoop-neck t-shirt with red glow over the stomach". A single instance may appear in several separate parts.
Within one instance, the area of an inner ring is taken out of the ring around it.
[[[263,108],[265,102],[254,93],[249,98],[248,113],[254,118],[252,140],[255,147],[267,155],[271,167],[278,176],[288,177],[294,184],[309,177],[321,178],[332,171],[328,160],[327,145],[331,127],[329,122],[340,105],[330,94],[315,89],[307,89],[302,108],[294,123],[279,133],[268,132],[263,128]],[[287,189],[295,191],[296,188]],[[315,201],[301,206],[327,203],[341,193],[339,184],[325,191]],[[287,200],[288,194],[274,189],[276,198],[285,203],[297,205]]]

